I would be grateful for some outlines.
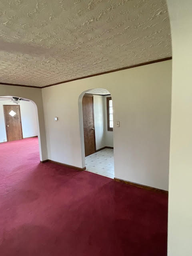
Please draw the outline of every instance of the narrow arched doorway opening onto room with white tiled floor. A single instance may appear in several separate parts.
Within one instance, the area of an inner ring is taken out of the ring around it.
[[[104,88],[84,91],[79,98],[82,164],[86,170],[114,178],[113,101]]]

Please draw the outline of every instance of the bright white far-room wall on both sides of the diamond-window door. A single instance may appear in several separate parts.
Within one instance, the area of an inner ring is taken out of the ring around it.
[[[3,105],[16,105],[10,100],[0,100],[0,142],[7,141]],[[22,101],[20,104],[23,138],[37,136],[36,109],[32,102]]]

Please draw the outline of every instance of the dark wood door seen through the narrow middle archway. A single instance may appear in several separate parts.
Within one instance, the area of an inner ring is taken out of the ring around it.
[[[83,106],[85,156],[89,156],[90,154],[95,153],[95,150],[96,150],[93,96],[85,94],[83,96],[82,106]]]

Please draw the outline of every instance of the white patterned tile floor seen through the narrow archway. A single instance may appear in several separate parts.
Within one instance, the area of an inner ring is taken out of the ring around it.
[[[105,148],[85,158],[86,170],[102,176],[114,178],[113,149]]]

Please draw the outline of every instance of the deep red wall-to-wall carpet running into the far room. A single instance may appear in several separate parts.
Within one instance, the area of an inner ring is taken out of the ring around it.
[[[166,256],[166,195],[0,144],[1,256]]]

